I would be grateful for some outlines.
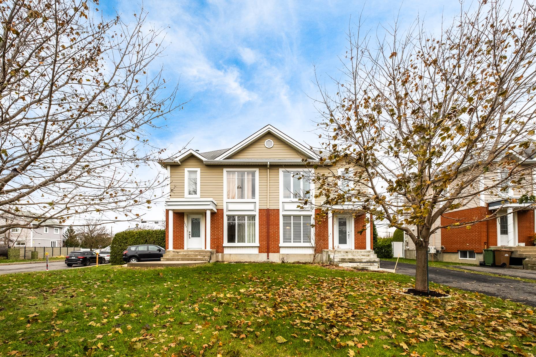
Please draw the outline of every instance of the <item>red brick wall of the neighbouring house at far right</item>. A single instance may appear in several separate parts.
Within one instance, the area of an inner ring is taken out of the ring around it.
[[[487,207],[468,208],[449,212],[441,216],[441,225],[463,223],[484,219],[491,214]],[[529,239],[534,234],[534,211],[517,212],[518,242],[531,245]],[[482,249],[497,245],[497,221],[490,219],[467,227],[450,227],[441,229],[441,245],[446,253],[457,253],[458,250],[474,250],[482,253]]]

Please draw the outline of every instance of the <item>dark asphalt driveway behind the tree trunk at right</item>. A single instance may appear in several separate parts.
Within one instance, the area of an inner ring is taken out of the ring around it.
[[[394,263],[382,260],[379,262],[379,267],[393,269]],[[398,263],[397,274],[415,276],[415,265]],[[464,272],[431,267],[429,268],[429,277],[431,282],[437,284],[536,306],[536,284],[520,282],[509,278],[476,274],[470,271]]]

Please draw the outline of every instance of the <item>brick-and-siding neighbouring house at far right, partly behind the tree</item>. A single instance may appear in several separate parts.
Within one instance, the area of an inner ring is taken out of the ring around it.
[[[501,170],[490,170],[475,184],[474,188],[465,191],[464,193],[474,189],[483,192],[463,202],[460,208],[443,214],[436,221],[435,226],[470,222],[489,216],[492,216],[492,219],[475,223],[470,226],[470,229],[463,226],[436,231],[430,237],[429,242],[429,252],[437,254],[435,259],[478,264],[483,260],[482,249],[495,246],[532,246],[532,239],[536,232],[534,203],[518,203],[517,201],[527,191],[534,194],[533,175],[530,174],[531,166],[529,166],[534,162],[533,158],[525,161],[526,176],[531,178],[526,180],[523,189],[509,185],[486,189],[486,187],[496,185],[506,174]],[[405,257],[415,258],[413,241],[407,235],[404,239]]]

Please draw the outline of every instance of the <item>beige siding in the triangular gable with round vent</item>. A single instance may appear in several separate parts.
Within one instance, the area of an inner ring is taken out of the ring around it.
[[[264,142],[267,139],[273,140],[273,147],[270,149],[264,146]],[[296,151],[287,143],[277,138],[276,135],[267,133],[229,158],[300,159],[302,157],[304,157],[304,154]]]

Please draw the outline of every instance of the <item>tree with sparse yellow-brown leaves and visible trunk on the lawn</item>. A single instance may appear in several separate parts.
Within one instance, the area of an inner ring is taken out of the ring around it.
[[[321,165],[354,169],[317,174],[316,197],[324,207],[360,201],[403,230],[416,246],[419,291],[428,289],[431,234],[495,218],[442,225],[442,215],[481,195],[534,201],[536,11],[528,1],[473,5],[462,4],[435,35],[421,21],[405,32],[395,22],[376,37],[358,24],[337,89],[317,81]],[[341,181],[352,185],[341,188]],[[506,194],[511,189],[517,198]]]

